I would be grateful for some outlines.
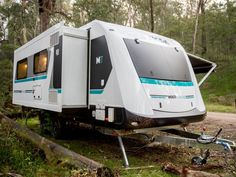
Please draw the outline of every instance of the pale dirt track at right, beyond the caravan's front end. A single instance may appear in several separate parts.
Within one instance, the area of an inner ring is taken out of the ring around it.
[[[202,131],[206,128],[207,134],[214,135],[223,128],[221,137],[236,141],[236,114],[208,112],[204,121],[189,125],[192,131]]]

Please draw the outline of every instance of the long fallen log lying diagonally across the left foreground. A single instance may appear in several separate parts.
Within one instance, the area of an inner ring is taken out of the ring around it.
[[[56,144],[39,134],[23,127],[6,117],[0,112],[0,123],[10,127],[21,138],[27,139],[44,151],[47,160],[53,162],[66,162],[75,167],[87,169],[90,172],[95,172],[97,176],[114,176],[111,169],[103,164],[91,160],[85,156],[77,154],[59,144]]]

